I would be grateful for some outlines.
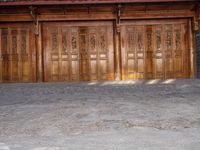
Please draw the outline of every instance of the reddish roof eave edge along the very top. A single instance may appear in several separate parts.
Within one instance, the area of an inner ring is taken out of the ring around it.
[[[0,6],[200,2],[200,0],[30,0],[0,2]]]

